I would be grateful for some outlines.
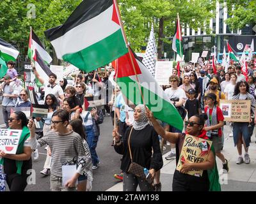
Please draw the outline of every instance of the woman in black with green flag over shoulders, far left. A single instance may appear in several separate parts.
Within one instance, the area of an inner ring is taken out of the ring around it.
[[[6,154],[0,150],[0,164],[4,166],[6,182],[10,191],[24,191],[27,186],[28,170],[32,169],[32,149],[28,119],[25,113],[17,111],[8,119],[10,129],[22,129],[16,154]]]

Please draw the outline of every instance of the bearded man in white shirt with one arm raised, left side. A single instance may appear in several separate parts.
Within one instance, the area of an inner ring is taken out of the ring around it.
[[[49,80],[46,82],[44,78],[40,77],[36,68],[33,67],[33,71],[41,84],[44,84],[44,99],[48,94],[53,94],[57,99],[60,98],[62,101],[65,98],[64,92],[61,86],[56,84],[57,76],[54,73],[49,75]]]

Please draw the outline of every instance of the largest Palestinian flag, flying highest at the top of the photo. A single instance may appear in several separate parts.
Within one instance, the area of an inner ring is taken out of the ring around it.
[[[58,27],[45,31],[58,59],[89,72],[126,54],[118,5],[86,0]]]

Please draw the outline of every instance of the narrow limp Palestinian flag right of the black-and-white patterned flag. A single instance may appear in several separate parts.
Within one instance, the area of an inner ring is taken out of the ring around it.
[[[174,52],[177,52],[177,54],[180,55],[180,58],[182,59],[183,45],[182,45],[182,36],[181,36],[179,15],[177,18],[175,31],[176,31],[176,33],[174,34],[173,40],[172,40],[172,49]]]

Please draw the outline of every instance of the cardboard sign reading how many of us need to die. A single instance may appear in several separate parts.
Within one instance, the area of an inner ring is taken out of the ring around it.
[[[223,112],[224,121],[250,122],[250,100],[220,100],[220,109]]]

